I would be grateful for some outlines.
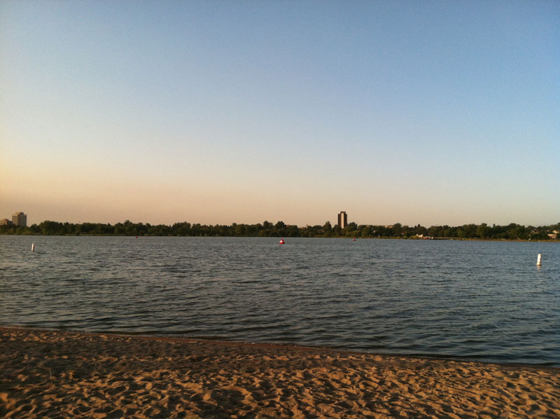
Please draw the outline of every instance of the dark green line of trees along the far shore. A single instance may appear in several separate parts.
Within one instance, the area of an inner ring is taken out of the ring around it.
[[[558,240],[560,223],[550,226],[492,226],[482,224],[464,224],[463,226],[370,226],[349,223],[341,228],[332,226],[329,221],[316,226],[298,227],[278,221],[272,224],[264,221],[258,224],[232,224],[206,226],[190,224],[186,221],[172,225],[143,224],[125,221],[117,224],[102,223],[62,223],[43,221],[32,226],[0,226],[0,234],[22,235],[158,235],[158,236],[228,236],[228,237],[303,237],[303,238],[456,238],[482,240]]]

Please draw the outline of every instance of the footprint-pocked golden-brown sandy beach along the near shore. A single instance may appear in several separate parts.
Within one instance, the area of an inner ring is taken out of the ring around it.
[[[560,369],[0,327],[2,418],[560,418]]]

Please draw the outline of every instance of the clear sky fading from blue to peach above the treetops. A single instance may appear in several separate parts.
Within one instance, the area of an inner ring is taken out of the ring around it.
[[[560,221],[558,1],[0,2],[0,218]]]

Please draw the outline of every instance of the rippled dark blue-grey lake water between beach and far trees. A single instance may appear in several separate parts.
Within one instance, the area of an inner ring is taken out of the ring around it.
[[[558,243],[278,242],[0,236],[0,323],[560,366]]]

